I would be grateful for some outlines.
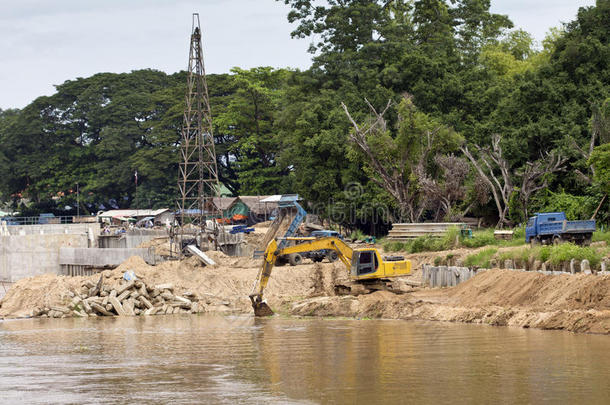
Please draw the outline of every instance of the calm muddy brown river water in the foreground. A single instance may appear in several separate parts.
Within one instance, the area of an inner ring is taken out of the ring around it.
[[[608,403],[610,338],[249,316],[0,322],[2,403]]]

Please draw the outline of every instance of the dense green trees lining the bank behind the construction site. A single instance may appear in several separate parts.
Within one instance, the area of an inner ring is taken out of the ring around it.
[[[231,194],[298,193],[313,214],[376,235],[395,221],[510,226],[547,210],[608,223],[610,0],[540,46],[485,0],[282,3],[293,36],[312,40],[310,69],[208,76]],[[0,204],[173,206],[185,87],[185,72],[99,73],[0,111]],[[475,236],[408,249],[492,243]]]

